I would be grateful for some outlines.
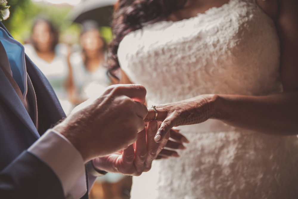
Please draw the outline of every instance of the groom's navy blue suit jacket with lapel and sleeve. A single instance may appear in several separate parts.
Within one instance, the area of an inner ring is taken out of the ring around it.
[[[1,22],[0,27],[8,32]],[[36,94],[38,130],[0,68],[0,198],[64,198],[59,178],[26,150],[66,116],[46,77],[27,55],[25,59]]]

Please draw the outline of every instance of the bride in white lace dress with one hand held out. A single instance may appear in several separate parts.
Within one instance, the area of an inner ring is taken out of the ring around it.
[[[176,126],[190,140],[132,198],[298,197],[297,4],[119,1],[111,74],[146,87],[156,142]]]

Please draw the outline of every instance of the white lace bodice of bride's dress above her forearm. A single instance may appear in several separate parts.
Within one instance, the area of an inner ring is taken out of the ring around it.
[[[254,0],[230,0],[190,19],[131,32],[119,45],[118,59],[156,103],[281,91],[277,33]]]

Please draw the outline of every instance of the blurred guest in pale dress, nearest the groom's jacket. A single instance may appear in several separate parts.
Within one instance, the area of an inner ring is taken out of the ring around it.
[[[69,101],[72,88],[71,74],[66,56],[66,44],[58,44],[59,32],[45,18],[38,18],[32,26],[30,44],[24,45],[26,54],[49,80],[66,114],[72,109]]]

